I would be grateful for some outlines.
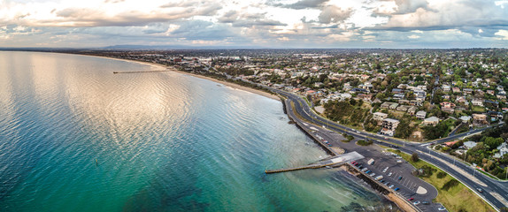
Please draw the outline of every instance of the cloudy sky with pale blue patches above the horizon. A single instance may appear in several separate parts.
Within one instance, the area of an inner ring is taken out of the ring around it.
[[[508,48],[508,0],[2,0],[0,47]]]

